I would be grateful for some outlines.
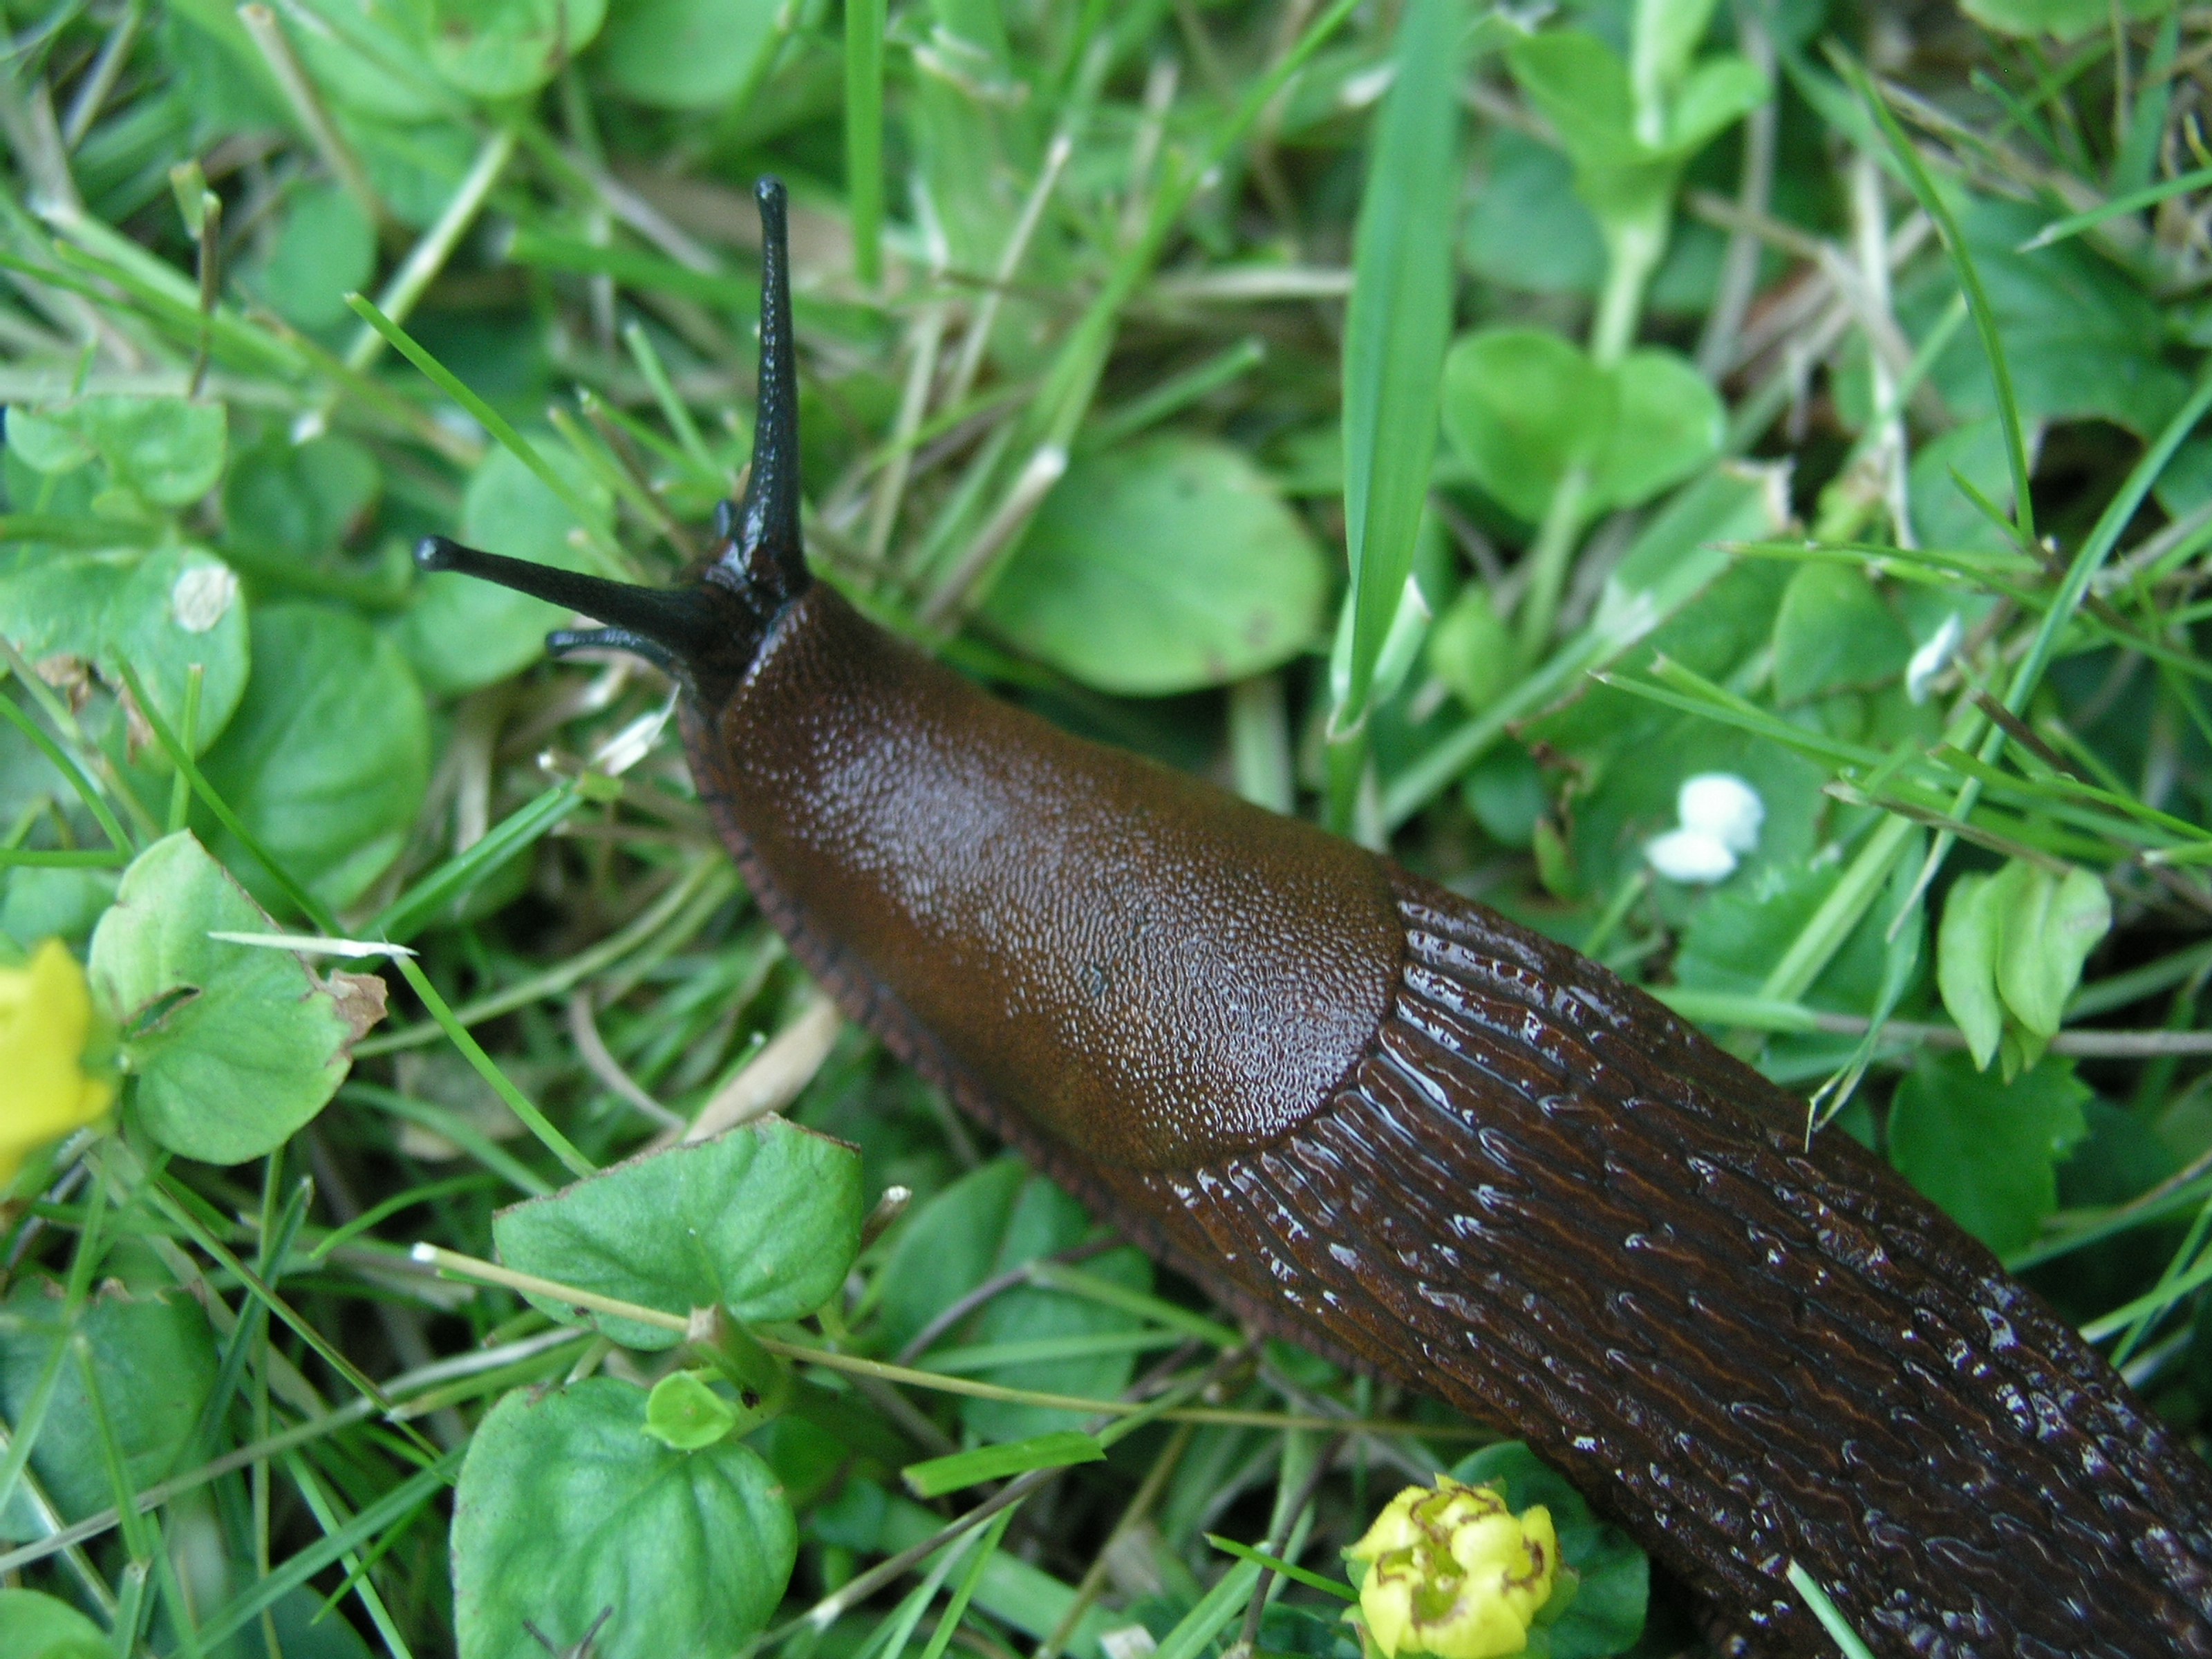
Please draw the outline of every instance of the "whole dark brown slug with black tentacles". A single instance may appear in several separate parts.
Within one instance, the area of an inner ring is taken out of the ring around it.
[[[2212,1655],[2212,1471],[1997,1261],[1613,973],[984,697],[812,582],[783,190],[759,427],[688,586],[431,538],[684,686],[849,1015],[1254,1325],[1528,1440],[1732,1655]]]

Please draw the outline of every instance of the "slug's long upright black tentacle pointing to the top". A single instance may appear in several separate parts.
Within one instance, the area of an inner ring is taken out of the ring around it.
[[[754,201],[761,208],[761,374],[752,471],[737,511],[717,518],[728,546],[708,580],[734,577],[745,591],[787,604],[807,588],[807,562],[799,538],[799,363],[783,181],[761,179]]]

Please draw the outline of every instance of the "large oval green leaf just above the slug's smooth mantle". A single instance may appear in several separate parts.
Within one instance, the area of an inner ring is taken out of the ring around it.
[[[1325,597],[1321,546],[1265,476],[1164,434],[1077,460],[984,613],[1086,686],[1166,697],[1296,657]]]

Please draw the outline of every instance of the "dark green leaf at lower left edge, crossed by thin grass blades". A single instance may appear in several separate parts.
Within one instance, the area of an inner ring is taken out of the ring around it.
[[[0,1411],[20,1422],[55,1343],[66,1340],[62,1298],[51,1281],[18,1279],[0,1303]],[[175,1473],[215,1385],[215,1336],[199,1303],[181,1290],[133,1294],[100,1290],[77,1316],[77,1336],[100,1380],[100,1402],[124,1451],[133,1489]],[[62,1520],[84,1520],[115,1502],[108,1462],[84,1391],[84,1367],[62,1356],[31,1469]],[[18,1502],[4,1524],[11,1540],[42,1526]]]

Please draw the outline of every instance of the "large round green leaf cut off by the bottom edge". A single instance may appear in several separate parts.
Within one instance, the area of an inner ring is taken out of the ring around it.
[[[453,1493],[460,1659],[544,1659],[606,1615],[593,1659],[734,1652],[792,1577],[799,1533],[748,1447],[672,1451],[646,1391],[591,1378],[518,1389],[469,1444]]]

